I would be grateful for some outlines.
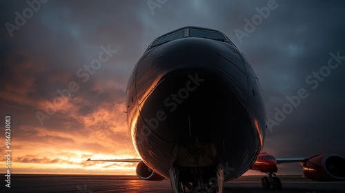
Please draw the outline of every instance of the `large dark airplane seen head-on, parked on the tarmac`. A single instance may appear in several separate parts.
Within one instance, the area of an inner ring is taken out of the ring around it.
[[[126,89],[128,131],[141,159],[139,179],[169,179],[172,192],[223,192],[248,170],[268,174],[262,187],[282,189],[278,164],[300,162],[315,181],[345,180],[335,154],[275,158],[262,152],[266,111],[252,66],[226,34],[186,26],[146,49]]]

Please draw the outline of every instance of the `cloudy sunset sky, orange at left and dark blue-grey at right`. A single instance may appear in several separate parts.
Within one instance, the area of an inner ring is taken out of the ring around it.
[[[135,174],[136,164],[86,159],[139,158],[124,113],[128,77],[156,37],[184,26],[224,32],[253,65],[268,117],[264,151],[345,156],[344,1],[0,4],[0,150],[12,150],[12,173]],[[0,165],[5,173],[6,156]],[[279,165],[278,174],[302,170]]]

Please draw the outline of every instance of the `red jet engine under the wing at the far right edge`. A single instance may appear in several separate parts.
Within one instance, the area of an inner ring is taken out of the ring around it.
[[[303,164],[304,176],[313,181],[344,181],[345,159],[336,154],[317,154]]]

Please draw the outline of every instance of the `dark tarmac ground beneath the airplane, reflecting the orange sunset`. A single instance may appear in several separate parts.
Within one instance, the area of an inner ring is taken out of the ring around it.
[[[1,175],[3,176],[3,175]],[[345,192],[345,182],[315,182],[297,176],[281,176],[282,190],[264,190],[261,176],[241,176],[224,185],[226,192]],[[1,179],[4,179],[2,177]],[[2,180],[0,192],[172,192],[170,181],[143,181],[137,176],[12,174],[10,188]]]

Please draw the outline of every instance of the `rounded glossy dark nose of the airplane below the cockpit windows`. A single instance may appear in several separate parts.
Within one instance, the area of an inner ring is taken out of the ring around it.
[[[210,39],[179,39],[154,48],[139,61],[139,111],[159,139],[214,143],[238,132],[229,128],[245,121],[241,119],[246,117],[248,85],[242,58],[231,46]]]

